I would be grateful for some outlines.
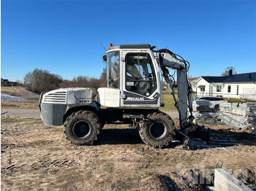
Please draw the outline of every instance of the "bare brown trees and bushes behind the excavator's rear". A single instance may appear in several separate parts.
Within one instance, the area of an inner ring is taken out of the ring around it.
[[[72,80],[63,79],[58,74],[51,74],[48,70],[34,69],[24,77],[24,85],[35,93],[55,90],[59,87],[106,87],[107,72],[103,69],[101,76],[95,77],[74,77]]]

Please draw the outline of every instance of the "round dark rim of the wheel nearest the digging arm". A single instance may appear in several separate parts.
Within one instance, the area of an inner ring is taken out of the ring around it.
[[[149,127],[149,134],[154,139],[162,139],[167,134],[167,128],[162,122],[154,122]]]

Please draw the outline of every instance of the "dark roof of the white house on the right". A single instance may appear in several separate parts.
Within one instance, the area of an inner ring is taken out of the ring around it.
[[[207,82],[256,82],[256,72],[233,74],[225,77],[202,77]]]

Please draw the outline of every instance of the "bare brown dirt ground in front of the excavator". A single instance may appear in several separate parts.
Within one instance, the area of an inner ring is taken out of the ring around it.
[[[199,190],[198,174],[210,185],[218,161],[256,187],[255,135],[212,130],[218,135],[244,145],[154,149],[127,125],[105,125],[96,144],[77,147],[61,126],[1,117],[1,190]]]

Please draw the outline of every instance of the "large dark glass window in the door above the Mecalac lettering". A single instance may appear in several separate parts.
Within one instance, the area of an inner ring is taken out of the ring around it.
[[[126,62],[126,90],[149,96],[157,89],[153,63],[148,53],[129,53]]]

